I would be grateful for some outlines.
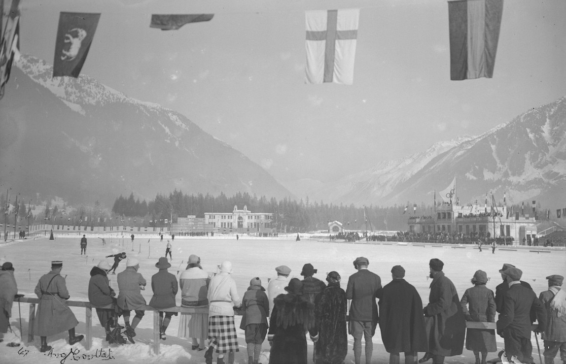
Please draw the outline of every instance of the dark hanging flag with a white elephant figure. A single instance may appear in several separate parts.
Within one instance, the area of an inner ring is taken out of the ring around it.
[[[79,77],[87,59],[100,13],[61,12],[55,40],[53,77]]]

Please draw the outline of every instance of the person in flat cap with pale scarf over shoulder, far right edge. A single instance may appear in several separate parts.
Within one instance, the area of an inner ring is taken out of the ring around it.
[[[560,351],[560,360],[566,364],[566,292],[561,289],[563,276],[552,274],[546,277],[548,290],[539,299],[546,308],[544,340],[544,364],[554,364],[554,357]]]

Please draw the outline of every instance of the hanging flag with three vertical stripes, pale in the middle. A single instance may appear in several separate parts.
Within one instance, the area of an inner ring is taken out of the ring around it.
[[[451,80],[493,76],[502,13],[503,0],[448,2]]]

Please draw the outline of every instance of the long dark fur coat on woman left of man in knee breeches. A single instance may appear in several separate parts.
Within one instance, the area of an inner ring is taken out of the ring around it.
[[[340,283],[328,283],[315,308],[319,340],[315,344],[316,363],[341,364],[348,353],[346,293]]]

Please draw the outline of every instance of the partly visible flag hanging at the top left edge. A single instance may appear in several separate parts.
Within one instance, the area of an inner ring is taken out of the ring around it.
[[[0,7],[0,19],[4,18],[4,2]],[[10,14],[6,19],[6,26],[0,20],[0,99],[4,96],[4,90],[8,79],[12,62],[20,56],[20,1],[12,0]]]

